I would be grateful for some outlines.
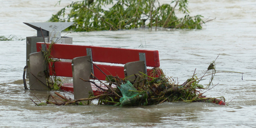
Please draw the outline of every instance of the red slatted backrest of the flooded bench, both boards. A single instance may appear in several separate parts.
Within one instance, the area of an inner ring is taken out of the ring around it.
[[[37,43],[37,51],[40,52],[42,44]],[[48,46],[47,46],[48,47]],[[54,44],[51,55],[53,58],[73,59],[80,56],[86,56],[86,49],[90,48],[92,52],[93,62],[105,62],[113,64],[126,64],[132,61],[140,61],[139,53],[145,53],[145,60],[147,67],[159,67],[159,55],[157,50],[140,50],[140,49],[124,49],[124,48],[109,48],[109,47],[95,47],[82,46],[73,44]],[[52,64],[51,64],[52,65]],[[119,76],[124,78],[124,67],[110,66],[104,64],[96,64],[104,73],[112,76]],[[52,69],[52,68],[49,68]],[[71,62],[58,61],[54,64],[56,76],[72,77]],[[100,79],[105,80],[105,75],[101,73],[95,66],[93,67],[94,75]],[[148,69],[149,70],[149,69]],[[50,75],[52,70],[50,70]]]

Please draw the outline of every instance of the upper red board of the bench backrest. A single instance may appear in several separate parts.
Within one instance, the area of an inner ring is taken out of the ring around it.
[[[37,43],[37,51],[41,49]],[[81,46],[73,44],[54,44],[51,55],[53,58],[73,59],[87,55],[86,48],[92,49],[93,61],[114,64],[126,64],[132,61],[139,61],[139,52],[145,53],[148,67],[159,67],[159,55],[157,50],[139,50],[110,47]]]

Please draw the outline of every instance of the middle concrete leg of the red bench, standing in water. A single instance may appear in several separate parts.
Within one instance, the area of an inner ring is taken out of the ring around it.
[[[76,57],[72,60],[72,73],[73,73],[73,85],[74,85],[74,98],[88,98],[89,91],[93,93],[90,82],[84,80],[90,80],[91,75],[91,63],[90,56]]]

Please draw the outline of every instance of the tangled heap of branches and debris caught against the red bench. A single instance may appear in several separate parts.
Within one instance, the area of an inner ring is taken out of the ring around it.
[[[107,87],[104,89],[95,84],[94,81],[89,81],[98,87],[102,92],[101,95],[93,96],[84,99],[72,100],[55,92],[57,96],[49,95],[47,102],[36,105],[94,105],[93,99],[98,100],[97,105],[114,105],[114,106],[147,106],[156,105],[163,102],[209,102],[219,105],[226,105],[223,96],[217,98],[209,98],[203,96],[205,92],[212,89],[216,85],[212,84],[212,79],[215,73],[238,73],[238,72],[216,72],[215,61],[213,61],[208,70],[212,73],[198,78],[195,72],[192,78],[187,79],[183,84],[177,84],[177,81],[172,77],[164,75],[160,68],[153,68],[147,76],[144,73],[134,74],[135,79],[121,79],[117,76],[106,76],[106,82],[101,84]],[[199,84],[205,76],[212,75],[209,84],[204,87]],[[84,80],[85,81],[85,80]],[[35,102],[34,102],[35,103]]]

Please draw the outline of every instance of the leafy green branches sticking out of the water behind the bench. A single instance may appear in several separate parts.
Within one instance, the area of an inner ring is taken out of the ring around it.
[[[59,1],[58,3],[60,3]],[[66,30],[101,31],[134,29],[139,27],[164,27],[175,29],[202,29],[201,15],[189,16],[188,0],[174,0],[175,6],[160,5],[157,0],[83,0],[72,2],[49,22],[74,22]],[[178,18],[175,7],[185,16]],[[112,6],[106,9],[106,6]]]

